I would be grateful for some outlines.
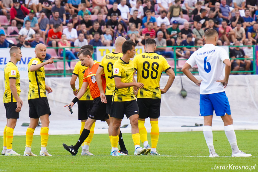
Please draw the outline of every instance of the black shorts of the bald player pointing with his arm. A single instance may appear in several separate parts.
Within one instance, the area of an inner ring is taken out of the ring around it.
[[[51,115],[47,97],[30,99],[28,102],[30,107],[30,118],[39,118],[46,114]]]

